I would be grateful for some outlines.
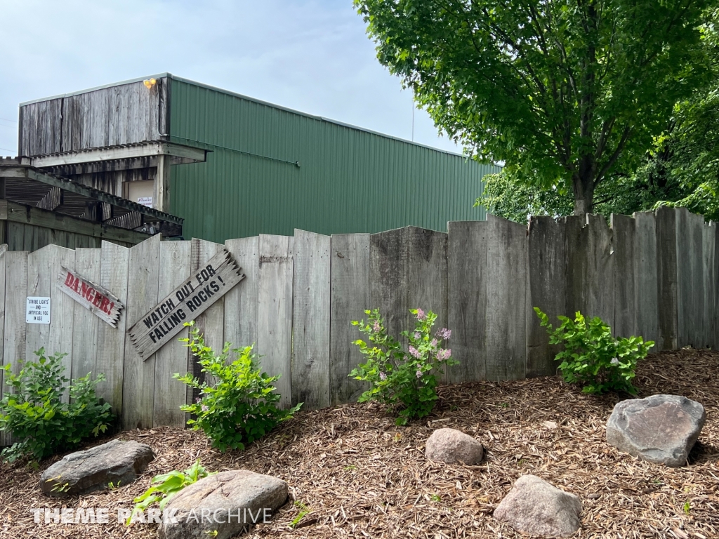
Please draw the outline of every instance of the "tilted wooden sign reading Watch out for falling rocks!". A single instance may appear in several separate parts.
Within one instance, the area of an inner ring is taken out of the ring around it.
[[[175,288],[127,331],[145,361],[182,331],[184,323],[205,312],[244,279],[227,249],[212,257],[196,275]]]

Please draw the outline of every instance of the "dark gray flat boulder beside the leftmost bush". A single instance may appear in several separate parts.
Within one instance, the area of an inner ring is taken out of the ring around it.
[[[40,489],[50,496],[69,496],[106,489],[109,483],[130,484],[152,459],[152,448],[144,443],[109,441],[52,464],[40,476]]]

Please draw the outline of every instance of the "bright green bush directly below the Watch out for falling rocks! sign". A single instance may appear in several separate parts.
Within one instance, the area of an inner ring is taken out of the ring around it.
[[[186,326],[193,326],[193,322]],[[188,373],[174,377],[190,387],[200,390],[197,402],[183,405],[181,408],[196,418],[188,420],[193,430],[201,428],[212,441],[212,446],[220,451],[244,449],[245,444],[262,438],[284,420],[291,418],[302,406],[300,402],[289,410],[278,410],[275,403],[280,394],[275,392],[273,383],[280,375],[269,377],[255,368],[257,354],[252,346],[244,349],[232,349],[237,359],[228,364],[229,343],[225,343],[219,356],[210,346],[206,346],[203,336],[193,328],[191,338],[181,338],[186,343],[202,372],[217,380],[207,384]]]

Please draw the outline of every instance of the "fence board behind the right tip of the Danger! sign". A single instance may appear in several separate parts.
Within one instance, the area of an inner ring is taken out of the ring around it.
[[[122,411],[122,377],[125,356],[125,330],[127,329],[127,276],[130,250],[102,242],[100,285],[110,290],[122,301],[117,327],[101,323],[98,328],[97,372],[105,374],[105,382],[97,388],[97,394],[109,402],[114,413]]]

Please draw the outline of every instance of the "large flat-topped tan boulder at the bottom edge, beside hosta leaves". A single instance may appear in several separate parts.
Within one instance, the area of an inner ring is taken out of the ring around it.
[[[287,497],[287,483],[282,479],[249,470],[221,471],[170,498],[158,537],[231,538],[253,524],[266,522]]]

